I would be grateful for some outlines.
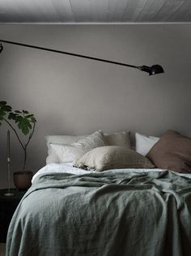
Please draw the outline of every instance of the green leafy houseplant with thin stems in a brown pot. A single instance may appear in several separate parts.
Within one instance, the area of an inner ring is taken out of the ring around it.
[[[36,118],[27,110],[12,110],[11,106],[6,104],[6,101],[0,101],[0,125],[2,122],[6,122],[11,127],[23,148],[23,167],[20,172],[14,173],[15,186],[19,190],[28,189],[31,186],[32,172],[26,171],[27,148],[35,130]],[[24,135],[23,140],[16,128]]]

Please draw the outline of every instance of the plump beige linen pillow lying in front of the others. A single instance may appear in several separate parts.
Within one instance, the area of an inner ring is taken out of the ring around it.
[[[96,147],[74,162],[74,167],[82,169],[154,168],[146,157],[136,151],[119,146]]]

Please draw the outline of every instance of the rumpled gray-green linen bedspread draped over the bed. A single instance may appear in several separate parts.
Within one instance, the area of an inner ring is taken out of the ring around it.
[[[191,179],[150,173],[36,177],[6,256],[190,256]]]

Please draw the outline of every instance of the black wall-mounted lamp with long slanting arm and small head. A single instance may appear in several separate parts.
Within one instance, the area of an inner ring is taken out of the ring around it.
[[[158,64],[153,65],[153,66],[134,66],[134,65],[126,64],[126,63],[121,63],[121,62],[108,61],[108,60],[105,60],[103,58],[94,58],[94,57],[90,57],[90,56],[86,56],[86,55],[81,55],[81,54],[76,54],[76,53],[69,53],[69,52],[64,52],[64,51],[60,51],[60,50],[57,50],[57,49],[49,49],[49,48],[39,47],[39,46],[35,46],[35,45],[25,45],[25,44],[13,42],[13,41],[0,40],[0,43],[1,43],[0,53],[2,52],[2,49],[3,49],[2,43],[6,43],[6,44],[11,44],[11,45],[19,45],[19,46],[29,47],[29,48],[33,48],[33,49],[41,49],[41,50],[45,50],[45,51],[49,51],[49,52],[53,52],[53,53],[62,53],[62,54],[75,56],[75,57],[79,57],[79,58],[88,58],[88,59],[98,61],[98,62],[108,62],[108,63],[120,65],[120,66],[129,66],[129,67],[133,67],[133,68],[136,68],[138,70],[141,70],[141,71],[145,71],[145,72],[149,73],[149,75],[156,75],[156,74],[164,73],[163,67],[158,65]]]

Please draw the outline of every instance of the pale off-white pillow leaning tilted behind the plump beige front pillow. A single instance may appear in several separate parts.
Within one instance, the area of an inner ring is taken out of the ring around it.
[[[86,138],[79,139],[76,143],[71,143],[70,145],[52,143],[50,147],[52,147],[53,151],[57,154],[60,163],[69,163],[83,156],[83,154],[90,151],[92,148],[104,145],[108,145],[104,134],[100,130],[97,130]]]

